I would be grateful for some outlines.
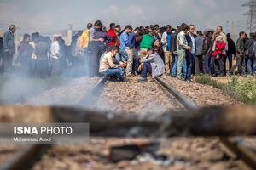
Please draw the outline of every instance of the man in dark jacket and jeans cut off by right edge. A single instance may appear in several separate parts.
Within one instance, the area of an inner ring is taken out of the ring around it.
[[[250,38],[247,40],[247,42],[244,45],[245,50],[248,50],[248,56],[247,56],[247,75],[252,74],[254,65],[256,66],[256,59],[254,55],[254,33],[250,33]]]

